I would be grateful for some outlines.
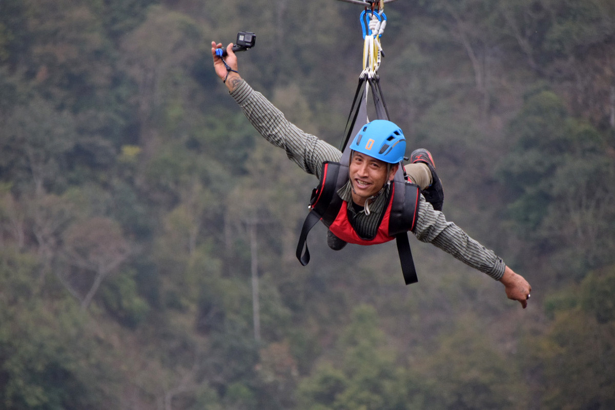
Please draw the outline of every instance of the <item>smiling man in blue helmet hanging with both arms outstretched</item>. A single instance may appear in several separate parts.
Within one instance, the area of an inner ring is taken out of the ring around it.
[[[216,49],[222,44],[212,41],[213,66],[218,77],[223,80],[231,97],[239,104],[245,116],[258,132],[269,143],[282,148],[290,160],[295,162],[301,169],[322,179],[323,164],[326,162],[338,162],[342,152],[335,147],[320,140],[314,135],[308,134],[285,119],[284,114],[271,104],[261,93],[255,92],[239,75],[237,69],[237,57],[232,52],[232,44],[226,47],[227,57],[220,58],[216,55]],[[370,127],[370,122],[365,125],[365,132],[375,131],[378,127]],[[395,135],[396,130],[391,122],[379,123],[385,125],[386,132]],[[392,124],[392,125],[391,125]],[[399,130],[401,132],[401,130]],[[361,133],[355,136],[353,144],[357,142]],[[381,135],[373,133],[370,135]],[[403,134],[402,134],[403,137]],[[402,138],[400,138],[401,140]],[[371,144],[371,143],[370,143]],[[378,235],[381,229],[379,223],[383,215],[387,213],[387,205],[392,195],[390,181],[394,180],[394,174],[399,163],[399,155],[392,155],[391,160],[387,157],[377,158],[371,153],[370,144],[357,144],[353,146],[351,160],[349,162],[347,183],[337,191],[337,195],[346,205],[347,213],[340,213],[342,219],[351,221],[348,227],[347,221],[342,221],[344,228],[336,232],[329,232],[328,243],[331,248],[341,248],[347,239],[355,237],[365,238]],[[405,138],[403,144],[397,146],[405,151]],[[395,158],[393,158],[395,157]],[[429,165],[428,165],[429,164]],[[430,167],[431,165],[431,167]],[[432,173],[433,159],[428,151],[420,149],[413,152],[411,164],[405,167],[408,177],[421,189],[429,189],[432,183],[439,182],[435,173]],[[322,182],[322,181],[321,181]],[[351,215],[350,219],[346,215]],[[427,202],[424,195],[418,195],[413,221],[410,231],[422,242],[429,242],[438,248],[450,253],[475,269],[488,274],[504,285],[504,290],[509,299],[520,302],[523,309],[530,299],[530,284],[516,274],[510,267],[504,264],[501,258],[493,251],[487,250],[480,243],[471,239],[454,223],[447,222],[444,214],[435,210],[434,206]],[[330,227],[333,230],[333,225]],[[344,234],[346,232],[346,234]],[[339,238],[338,234],[344,236]],[[360,242],[355,242],[360,243]]]

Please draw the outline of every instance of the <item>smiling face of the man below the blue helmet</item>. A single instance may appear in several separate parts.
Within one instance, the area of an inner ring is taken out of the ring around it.
[[[352,159],[348,170],[352,184],[352,201],[364,207],[365,201],[378,194],[387,181],[392,181],[398,164],[391,165],[375,159],[361,152],[352,152]]]

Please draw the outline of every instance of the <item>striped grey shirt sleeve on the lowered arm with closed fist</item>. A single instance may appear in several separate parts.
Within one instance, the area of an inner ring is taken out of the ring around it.
[[[434,210],[423,195],[419,195],[418,212],[413,233],[421,242],[429,242],[474,269],[495,280],[504,275],[506,264],[493,251],[488,250],[452,222]]]

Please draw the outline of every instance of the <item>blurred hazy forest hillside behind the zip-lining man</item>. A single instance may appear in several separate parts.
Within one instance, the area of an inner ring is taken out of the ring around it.
[[[337,146],[360,11],[0,0],[0,408],[615,408],[615,2],[386,6],[391,119],[526,310],[414,239],[412,286],[395,245],[336,253],[323,227],[296,261],[317,181],[210,42],[255,31],[242,76]]]

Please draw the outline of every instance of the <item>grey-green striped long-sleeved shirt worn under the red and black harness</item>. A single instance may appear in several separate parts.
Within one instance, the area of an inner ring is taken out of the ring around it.
[[[236,89],[231,92],[231,96],[265,140],[284,149],[288,158],[299,165],[302,170],[320,179],[323,162],[339,161],[341,157],[339,149],[296,127],[261,93],[253,90],[247,82],[242,81],[237,85]],[[338,194],[351,207],[352,197],[349,185],[340,189]],[[389,197],[389,192],[383,192],[383,194],[370,203],[369,215],[360,213],[353,221],[354,229],[362,237],[369,237],[369,235],[363,236],[362,234],[369,233],[376,225],[374,221],[380,221],[380,216],[386,210],[387,201],[385,199]],[[423,195],[419,196],[416,225],[413,230],[418,240],[432,243],[459,261],[484,272],[495,280],[499,280],[504,275],[506,265],[501,258],[470,238],[454,223],[446,221],[442,212],[434,210]]]

